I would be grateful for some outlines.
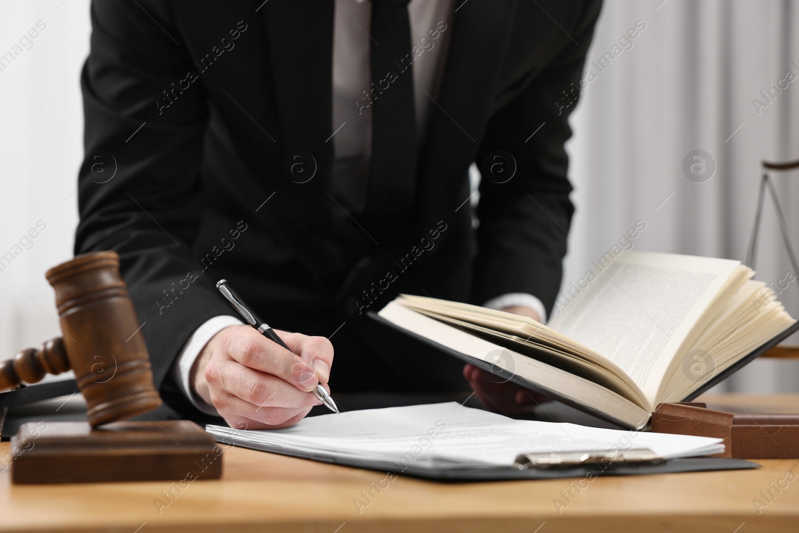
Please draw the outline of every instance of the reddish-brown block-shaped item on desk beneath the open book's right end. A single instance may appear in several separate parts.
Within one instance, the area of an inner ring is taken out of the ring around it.
[[[799,413],[733,413],[698,402],[660,404],[652,431],[724,439],[719,457],[799,459]]]

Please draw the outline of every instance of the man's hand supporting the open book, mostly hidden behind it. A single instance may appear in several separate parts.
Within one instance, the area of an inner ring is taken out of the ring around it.
[[[541,320],[537,312],[527,307],[513,306],[502,308],[500,311],[527,316],[536,322]],[[527,388],[504,380],[491,372],[475,367],[473,364],[467,364],[463,367],[463,377],[468,380],[471,390],[475,392],[488,410],[499,412],[503,415],[531,413],[539,403],[550,400],[547,396],[531,392]]]

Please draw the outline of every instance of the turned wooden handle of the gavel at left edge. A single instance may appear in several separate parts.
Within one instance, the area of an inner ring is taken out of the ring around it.
[[[13,359],[0,363],[0,391],[17,387],[23,381],[36,383],[46,374],[70,370],[62,337],[47,340],[39,349],[27,348],[14,354]]]

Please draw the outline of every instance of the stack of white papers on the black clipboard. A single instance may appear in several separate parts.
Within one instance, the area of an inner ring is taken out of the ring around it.
[[[285,455],[387,468],[510,467],[521,453],[548,451],[650,448],[666,459],[724,451],[721,439],[513,420],[456,402],[312,416],[278,430],[206,431],[221,442],[232,437]]]

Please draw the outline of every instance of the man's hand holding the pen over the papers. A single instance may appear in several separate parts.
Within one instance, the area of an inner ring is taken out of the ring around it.
[[[332,344],[324,337],[276,333],[291,352],[250,326],[229,326],[194,362],[193,392],[232,428],[286,428],[321,404],[312,391],[320,383],[328,388]]]

